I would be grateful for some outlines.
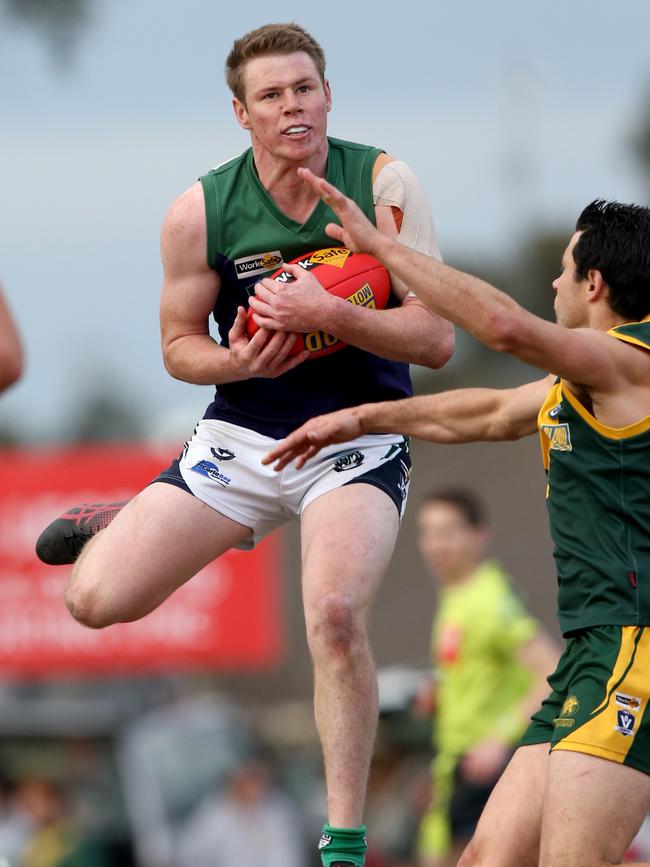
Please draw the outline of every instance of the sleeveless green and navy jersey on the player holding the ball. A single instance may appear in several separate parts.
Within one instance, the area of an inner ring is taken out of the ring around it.
[[[382,151],[330,138],[327,180],[375,222],[372,169]],[[262,186],[249,149],[201,179],[208,262],[221,278],[213,315],[223,346],[239,306],[248,308],[255,283],[282,262],[334,243],[325,226],[336,216],[319,201],[304,224],[290,219]],[[398,306],[391,295],[389,306]],[[221,419],[282,438],[307,419],[369,401],[412,394],[408,365],[348,346],[311,359],[275,379],[219,385],[205,418]]]

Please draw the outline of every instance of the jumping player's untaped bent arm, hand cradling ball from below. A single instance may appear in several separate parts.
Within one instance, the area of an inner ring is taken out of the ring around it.
[[[240,308],[229,332],[229,348],[210,336],[208,321],[219,294],[219,276],[206,260],[205,206],[194,184],[170,207],[162,229],[164,280],[160,303],[163,359],[175,378],[196,385],[280,376],[304,356],[288,359],[295,335],[260,329],[246,335]]]

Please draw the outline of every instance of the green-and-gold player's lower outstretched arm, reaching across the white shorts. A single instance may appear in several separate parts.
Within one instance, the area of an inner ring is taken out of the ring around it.
[[[323,446],[367,433],[393,433],[435,443],[516,440],[535,433],[537,415],[553,382],[546,376],[518,388],[462,388],[404,400],[365,403],[318,416],[264,458],[281,470],[302,467]]]

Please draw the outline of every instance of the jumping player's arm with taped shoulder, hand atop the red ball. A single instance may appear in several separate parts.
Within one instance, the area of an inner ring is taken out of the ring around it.
[[[382,154],[375,163],[373,180],[391,162],[395,162],[393,157]],[[414,179],[407,193],[399,201],[394,199],[396,204],[392,207],[388,204],[375,207],[378,230],[388,238],[397,238],[402,218],[414,223],[418,219],[430,222],[424,193]],[[410,212],[402,213],[404,208]],[[417,226],[414,229],[417,232]],[[266,279],[258,284],[251,299],[258,325],[282,331],[325,330],[345,343],[384,358],[434,369],[442,367],[451,357],[454,346],[451,324],[428,310],[397,275],[391,273],[392,288],[401,306],[372,310],[330,295],[313,274],[298,266],[287,266],[286,270],[295,282],[278,284]]]

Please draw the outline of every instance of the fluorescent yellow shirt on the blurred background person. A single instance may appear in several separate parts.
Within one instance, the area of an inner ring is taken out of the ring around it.
[[[525,720],[515,710],[532,674],[519,651],[537,631],[498,563],[486,561],[467,581],[441,589],[431,634],[439,753],[459,756],[487,737],[514,744],[521,736]]]

